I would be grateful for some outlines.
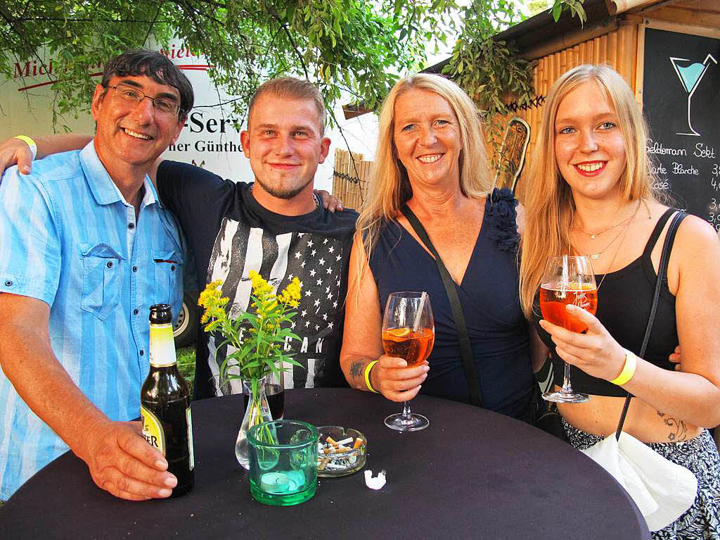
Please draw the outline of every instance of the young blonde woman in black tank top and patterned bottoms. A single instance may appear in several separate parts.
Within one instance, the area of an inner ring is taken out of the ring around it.
[[[720,423],[720,242],[700,218],[680,223],[649,345],[644,358],[632,358],[644,337],[667,222],[675,213],[650,189],[646,139],[634,95],[611,68],[580,66],[554,84],[532,161],[521,303],[539,319],[534,298],[547,257],[591,256],[597,317],[567,307],[588,332],[544,320],[538,328],[555,373],[562,377],[562,362],[569,363],[573,389],[593,394],[585,403],[559,404],[570,443],[588,448],[614,433],[626,393],[634,394],[624,431],[698,477],[693,506],[653,537],[717,539],[719,460],[704,428]],[[682,371],[673,371],[667,358],[678,340]],[[557,375],[555,382],[562,384]]]

